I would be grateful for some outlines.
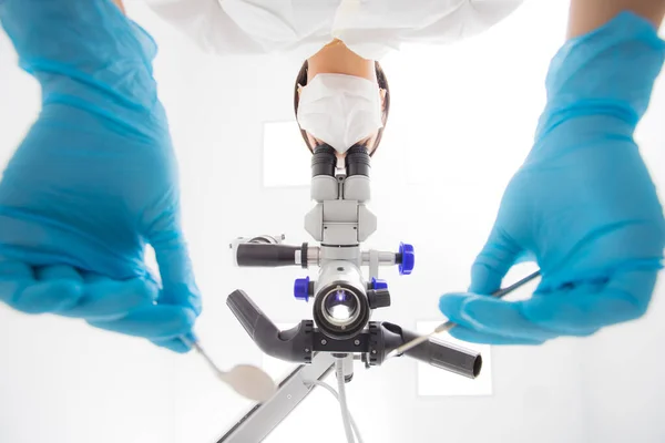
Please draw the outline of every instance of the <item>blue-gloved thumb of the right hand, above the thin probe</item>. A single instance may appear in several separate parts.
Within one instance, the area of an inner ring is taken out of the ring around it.
[[[521,257],[525,257],[523,249],[507,234],[494,228],[471,267],[469,292],[489,296],[500,289],[503,277]]]

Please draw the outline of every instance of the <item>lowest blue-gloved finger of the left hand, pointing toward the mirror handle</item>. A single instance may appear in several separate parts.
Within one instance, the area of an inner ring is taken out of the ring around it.
[[[170,340],[192,331],[196,313],[187,308],[154,305],[136,309],[119,320],[88,321],[91,326],[150,340]]]

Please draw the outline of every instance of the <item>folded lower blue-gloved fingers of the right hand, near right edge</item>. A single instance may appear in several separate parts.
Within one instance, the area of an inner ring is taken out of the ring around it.
[[[565,334],[589,334],[644,315],[657,270],[630,270],[604,282],[571,284],[523,302],[530,321]]]

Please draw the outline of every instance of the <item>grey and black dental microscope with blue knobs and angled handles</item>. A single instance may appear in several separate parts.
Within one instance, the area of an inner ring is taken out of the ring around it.
[[[415,250],[403,243],[397,251],[361,249],[377,229],[377,217],[367,206],[369,153],[364,146],[352,146],[344,166],[337,167],[332,147],[315,150],[310,195],[316,205],[305,216],[305,230],[318,245],[285,245],[284,236],[237,238],[231,245],[237,266],[318,268],[318,277],[295,281],[294,297],[311,305],[313,318],[288,330],[279,330],[242,289],[228,296],[227,306],[263,352],[299,364],[278,383],[272,399],[255,404],[219,443],[264,441],[317,387],[313,380],[336,372],[341,396],[356,361],[367,369],[380,367],[390,351],[419,337],[398,324],[372,320],[377,309],[390,306],[391,298],[379,268],[397,266],[400,275],[408,276],[415,268]],[[431,339],[399,357],[471,379],[482,367],[478,352]],[[342,405],[342,415],[344,410]]]

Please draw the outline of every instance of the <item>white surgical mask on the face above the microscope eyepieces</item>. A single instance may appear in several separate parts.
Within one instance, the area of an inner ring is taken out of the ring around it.
[[[339,154],[383,127],[375,82],[354,75],[317,74],[303,91],[298,123]]]

